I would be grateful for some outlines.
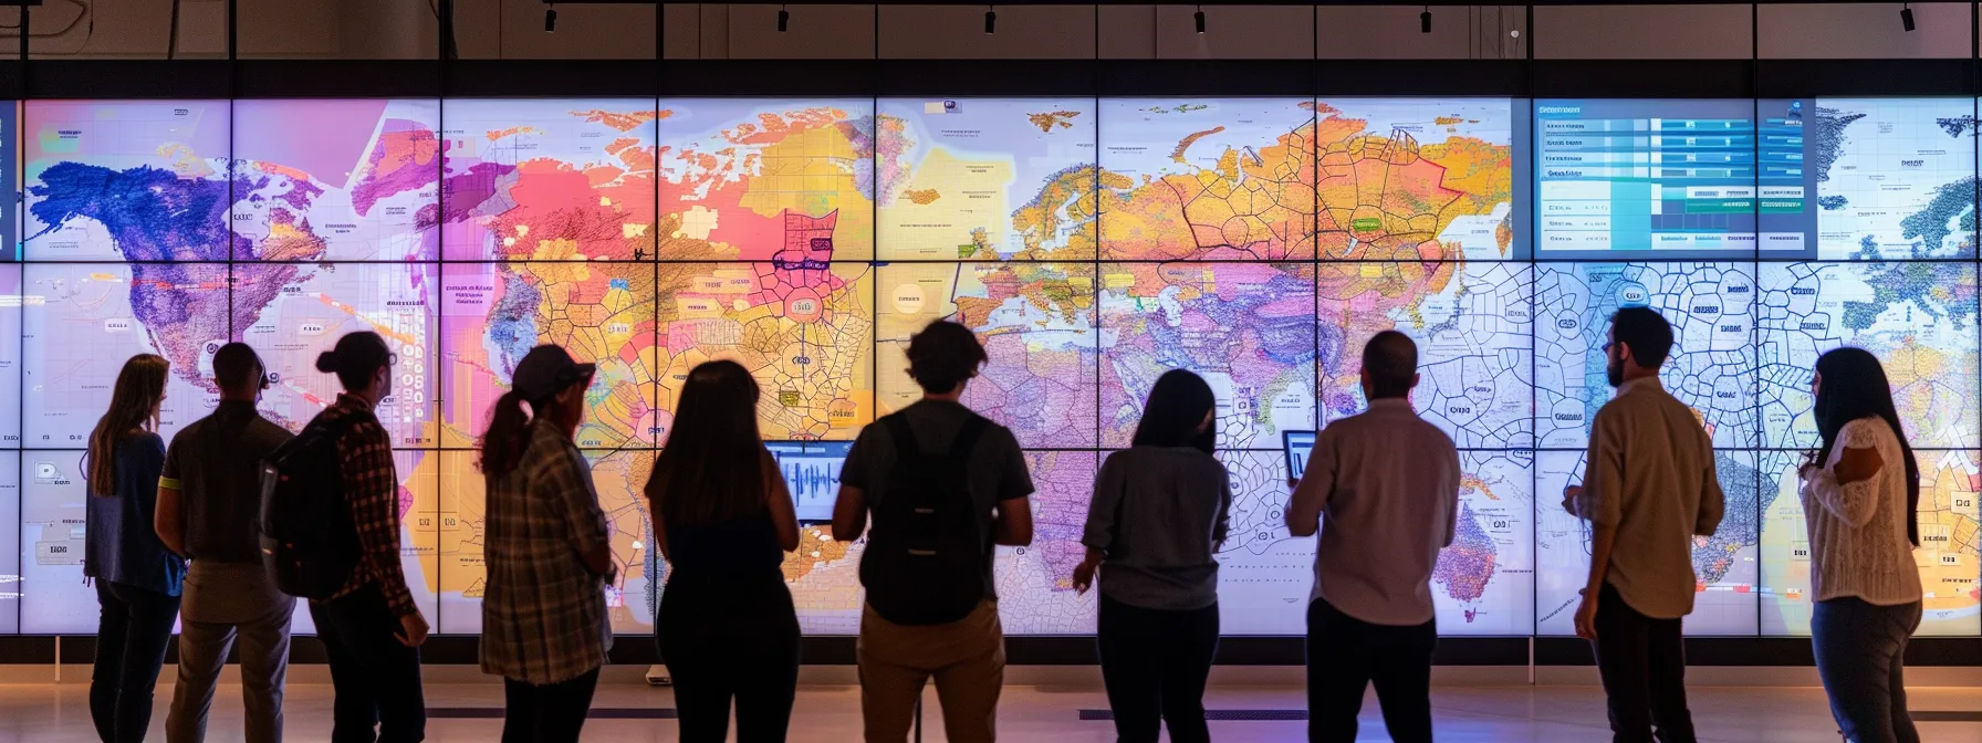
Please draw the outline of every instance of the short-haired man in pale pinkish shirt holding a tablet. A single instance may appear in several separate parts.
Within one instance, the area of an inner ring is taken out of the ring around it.
[[[1308,602],[1308,739],[1356,741],[1376,684],[1397,743],[1431,741],[1431,569],[1453,543],[1459,452],[1411,410],[1417,343],[1383,331],[1364,345],[1370,410],[1314,440],[1286,529],[1320,531]],[[1326,525],[1324,525],[1326,523]]]

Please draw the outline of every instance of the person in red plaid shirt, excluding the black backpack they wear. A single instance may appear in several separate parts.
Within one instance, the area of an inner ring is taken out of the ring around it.
[[[331,666],[333,741],[426,737],[426,695],[420,688],[426,616],[412,602],[400,569],[398,470],[392,466],[392,438],[373,412],[392,396],[396,363],[385,339],[371,331],[347,333],[335,349],[317,357],[317,371],[337,374],[345,390],[307,428],[337,432],[339,485],[359,543],[359,561],[343,588],[327,600],[309,602],[309,618],[317,622]]]

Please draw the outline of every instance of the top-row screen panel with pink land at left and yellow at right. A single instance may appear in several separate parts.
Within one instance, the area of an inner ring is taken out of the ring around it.
[[[660,109],[660,256],[874,258],[874,186],[894,182],[900,123],[872,99],[686,99]],[[807,230],[799,230],[805,224]],[[825,240],[821,244],[819,240]]]

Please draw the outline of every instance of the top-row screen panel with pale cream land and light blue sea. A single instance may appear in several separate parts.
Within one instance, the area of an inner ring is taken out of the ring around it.
[[[878,117],[880,258],[1094,258],[1094,99],[882,99]]]

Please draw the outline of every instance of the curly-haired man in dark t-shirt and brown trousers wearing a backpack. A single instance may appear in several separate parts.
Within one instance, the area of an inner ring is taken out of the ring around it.
[[[840,470],[832,537],[860,539],[874,519],[860,557],[868,743],[908,739],[930,678],[951,741],[997,739],[1005,628],[991,551],[1033,543],[1033,476],[1011,430],[959,402],[983,363],[969,329],[930,323],[908,341],[908,374],[922,400],[866,426]]]

